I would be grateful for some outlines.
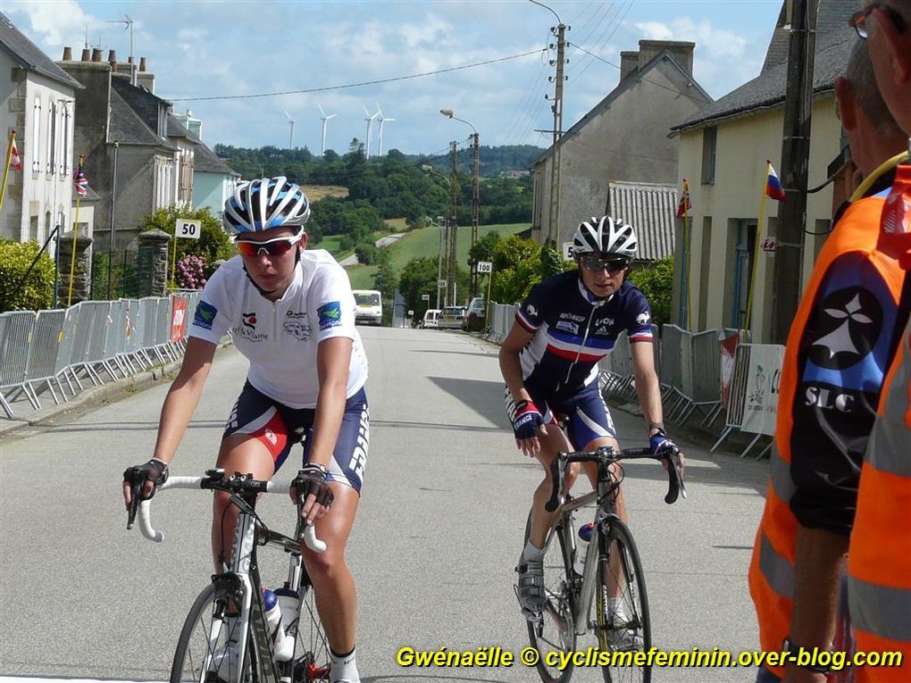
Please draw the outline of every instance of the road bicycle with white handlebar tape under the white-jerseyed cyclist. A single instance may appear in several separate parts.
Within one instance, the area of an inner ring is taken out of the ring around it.
[[[207,470],[204,477],[171,476],[159,484],[168,489],[226,491],[239,510],[234,532],[230,566],[211,577],[189,609],[180,631],[170,672],[170,683],[310,683],[329,678],[329,646],[313,601],[307,568],[302,562],[301,538],[315,552],[325,550],[312,526],[303,525],[297,515],[293,537],[271,530],[256,513],[259,494],[287,494],[290,484],[264,482],[251,474]],[[151,499],[138,505],[142,535],[160,543],[164,535],[149,521]],[[131,511],[127,528],[133,525]],[[281,625],[294,639],[291,658],[276,658],[276,633],[269,627],[263,604],[260,562],[257,550],[269,546],[288,554],[288,579],[280,589]],[[291,601],[287,599],[291,596]],[[292,608],[296,596],[297,608]]]

